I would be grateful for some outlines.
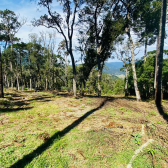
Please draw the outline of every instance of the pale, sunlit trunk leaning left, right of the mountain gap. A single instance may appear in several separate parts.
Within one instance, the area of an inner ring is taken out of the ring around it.
[[[134,80],[134,89],[135,89],[136,99],[137,101],[141,101],[141,96],[140,96],[140,92],[139,92],[138,84],[137,84],[136,69],[135,69],[134,43],[131,37],[130,28],[127,28],[126,32],[127,32],[130,44],[131,44],[132,71],[133,71],[133,80]]]

